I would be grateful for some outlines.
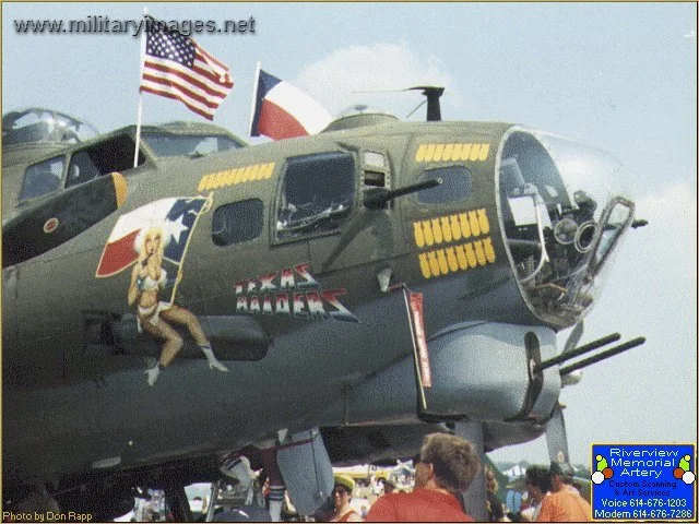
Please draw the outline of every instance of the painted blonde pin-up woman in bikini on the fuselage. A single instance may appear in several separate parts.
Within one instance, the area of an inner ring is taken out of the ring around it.
[[[161,371],[173,361],[182,348],[182,337],[169,325],[170,323],[187,326],[206,357],[210,369],[228,371],[228,368],[214,356],[211,344],[197,317],[188,309],[158,300],[161,289],[170,283],[177,285],[182,278],[181,271],[178,271],[177,276],[171,282],[168,281],[167,272],[163,269],[163,253],[169,241],[169,236],[168,238],[163,238],[163,228],[157,226],[142,229],[138,235],[134,249],[139,253],[139,258],[131,272],[128,295],[129,306],[135,305],[137,307],[139,330],[144,330],[157,338],[165,340],[158,362],[146,370],[149,385],[155,383]]]

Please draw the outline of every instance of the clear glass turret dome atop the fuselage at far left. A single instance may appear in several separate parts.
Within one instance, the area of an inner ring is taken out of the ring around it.
[[[48,109],[31,108],[2,117],[3,145],[25,143],[78,144],[96,136],[97,130],[74,117]]]

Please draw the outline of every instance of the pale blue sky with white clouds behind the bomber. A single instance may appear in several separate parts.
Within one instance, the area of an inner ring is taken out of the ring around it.
[[[522,123],[601,147],[637,217],[580,344],[647,343],[583,370],[560,401],[573,463],[592,443],[697,441],[697,4],[2,3],[2,110],[43,106],[106,132],[135,121],[139,39],[20,34],[19,20],[256,21],[254,34],[196,34],[235,86],[215,123],[247,136],[256,63],[337,114],[367,104],[404,119],[412,85],[446,87],[446,120]],[[424,109],[408,120],[424,118]],[[198,120],[144,95],[144,122]],[[254,139],[256,143],[266,139]],[[568,332],[558,335],[560,346]],[[547,463],[544,438],[496,461]]]

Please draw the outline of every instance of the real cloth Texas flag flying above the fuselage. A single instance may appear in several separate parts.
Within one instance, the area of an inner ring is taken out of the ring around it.
[[[250,136],[281,140],[316,134],[332,120],[306,93],[261,69],[257,85]]]

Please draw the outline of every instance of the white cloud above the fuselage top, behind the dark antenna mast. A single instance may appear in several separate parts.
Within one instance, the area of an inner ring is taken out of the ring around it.
[[[351,46],[307,66],[294,81],[332,115],[354,104],[394,112],[403,119],[423,97],[416,93],[357,93],[400,91],[415,85],[440,85],[453,93],[453,81],[435,56],[412,51],[406,44]]]

